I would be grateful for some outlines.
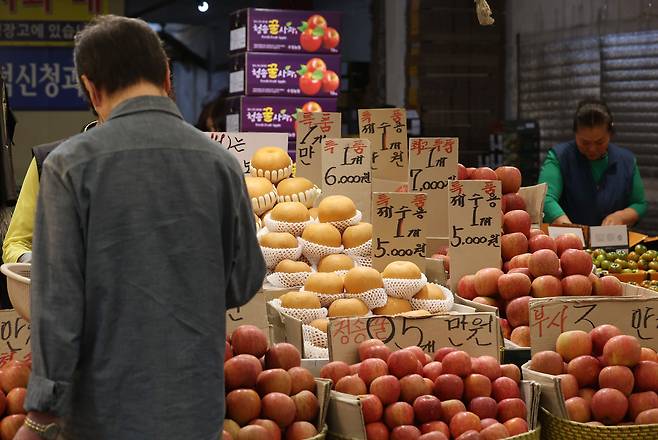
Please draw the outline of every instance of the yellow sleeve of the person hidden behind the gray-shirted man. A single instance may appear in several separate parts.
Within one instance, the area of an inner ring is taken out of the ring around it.
[[[2,261],[5,263],[16,263],[21,256],[32,252],[32,232],[38,194],[39,173],[36,161],[32,159],[2,243]]]

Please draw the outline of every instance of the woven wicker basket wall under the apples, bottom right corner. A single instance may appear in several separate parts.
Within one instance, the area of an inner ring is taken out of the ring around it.
[[[543,438],[550,440],[656,440],[658,424],[591,426],[553,416],[540,411]]]

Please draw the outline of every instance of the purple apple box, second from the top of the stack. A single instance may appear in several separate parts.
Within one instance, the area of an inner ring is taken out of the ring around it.
[[[231,58],[229,93],[336,98],[340,55],[246,52]]]

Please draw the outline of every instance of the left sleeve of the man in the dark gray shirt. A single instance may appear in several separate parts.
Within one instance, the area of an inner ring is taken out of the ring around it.
[[[46,161],[35,222],[31,286],[32,374],[25,409],[66,415],[80,356],[84,240],[70,182]],[[43,414],[35,414],[37,417]]]

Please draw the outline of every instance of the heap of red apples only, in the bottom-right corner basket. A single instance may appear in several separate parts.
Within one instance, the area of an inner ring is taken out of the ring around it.
[[[556,375],[569,418],[596,425],[658,423],[658,356],[609,324],[562,333],[531,369]]]

